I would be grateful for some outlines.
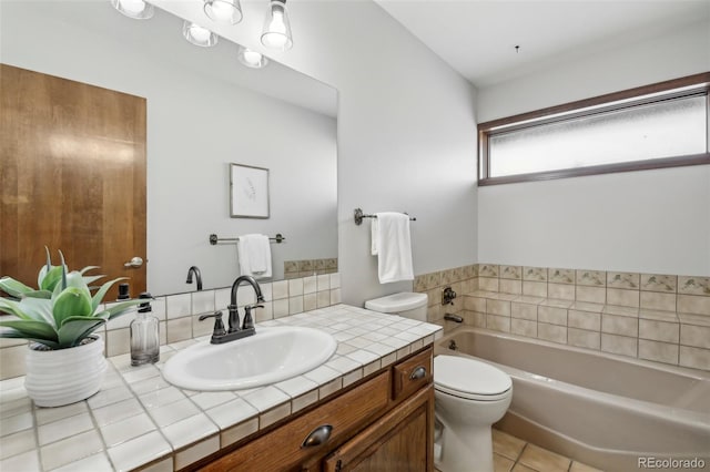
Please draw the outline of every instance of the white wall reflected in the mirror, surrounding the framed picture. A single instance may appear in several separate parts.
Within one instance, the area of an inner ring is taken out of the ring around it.
[[[284,258],[337,257],[334,119],[139,53],[121,38],[32,14],[31,3],[2,6],[2,62],[148,99],[151,293],[194,289],[185,285],[192,265],[205,288],[231,285],[236,246],[211,246],[211,233],[283,233],[287,243],[272,245],[275,278],[283,278]],[[230,218],[232,162],[270,168],[268,219]]]

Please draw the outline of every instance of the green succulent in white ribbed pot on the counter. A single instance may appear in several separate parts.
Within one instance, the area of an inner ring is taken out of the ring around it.
[[[47,248],[45,248],[47,249]],[[95,266],[69,271],[64,256],[53,266],[49,249],[41,267],[38,289],[13,279],[0,278],[0,311],[13,319],[0,320],[2,338],[30,341],[24,387],[39,407],[60,407],[84,400],[101,388],[106,369],[103,338],[94,331],[145,300],[128,300],[104,307],[103,297],[116,278],[98,289],[89,284],[104,277],[89,276]],[[95,294],[92,295],[92,289]]]

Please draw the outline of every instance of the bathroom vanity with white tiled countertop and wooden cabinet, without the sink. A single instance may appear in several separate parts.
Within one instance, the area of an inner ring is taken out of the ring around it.
[[[0,383],[2,470],[433,471],[433,343],[442,327],[347,305],[258,324],[329,332],[321,367],[250,390],[195,391],[155,365],[110,357],[101,391],[61,408],[32,404],[23,378]],[[263,332],[262,332],[263,334]],[[234,341],[240,342],[240,341]],[[304,444],[305,443],[305,444]]]

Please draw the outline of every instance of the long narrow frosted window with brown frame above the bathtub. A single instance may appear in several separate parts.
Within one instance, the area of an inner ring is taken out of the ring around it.
[[[479,185],[710,164],[710,73],[478,125]]]

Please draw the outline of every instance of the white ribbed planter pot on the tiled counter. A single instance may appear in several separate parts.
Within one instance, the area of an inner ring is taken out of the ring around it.
[[[62,407],[85,400],[101,388],[106,371],[103,338],[75,348],[37,350],[29,347],[24,388],[38,407]]]

